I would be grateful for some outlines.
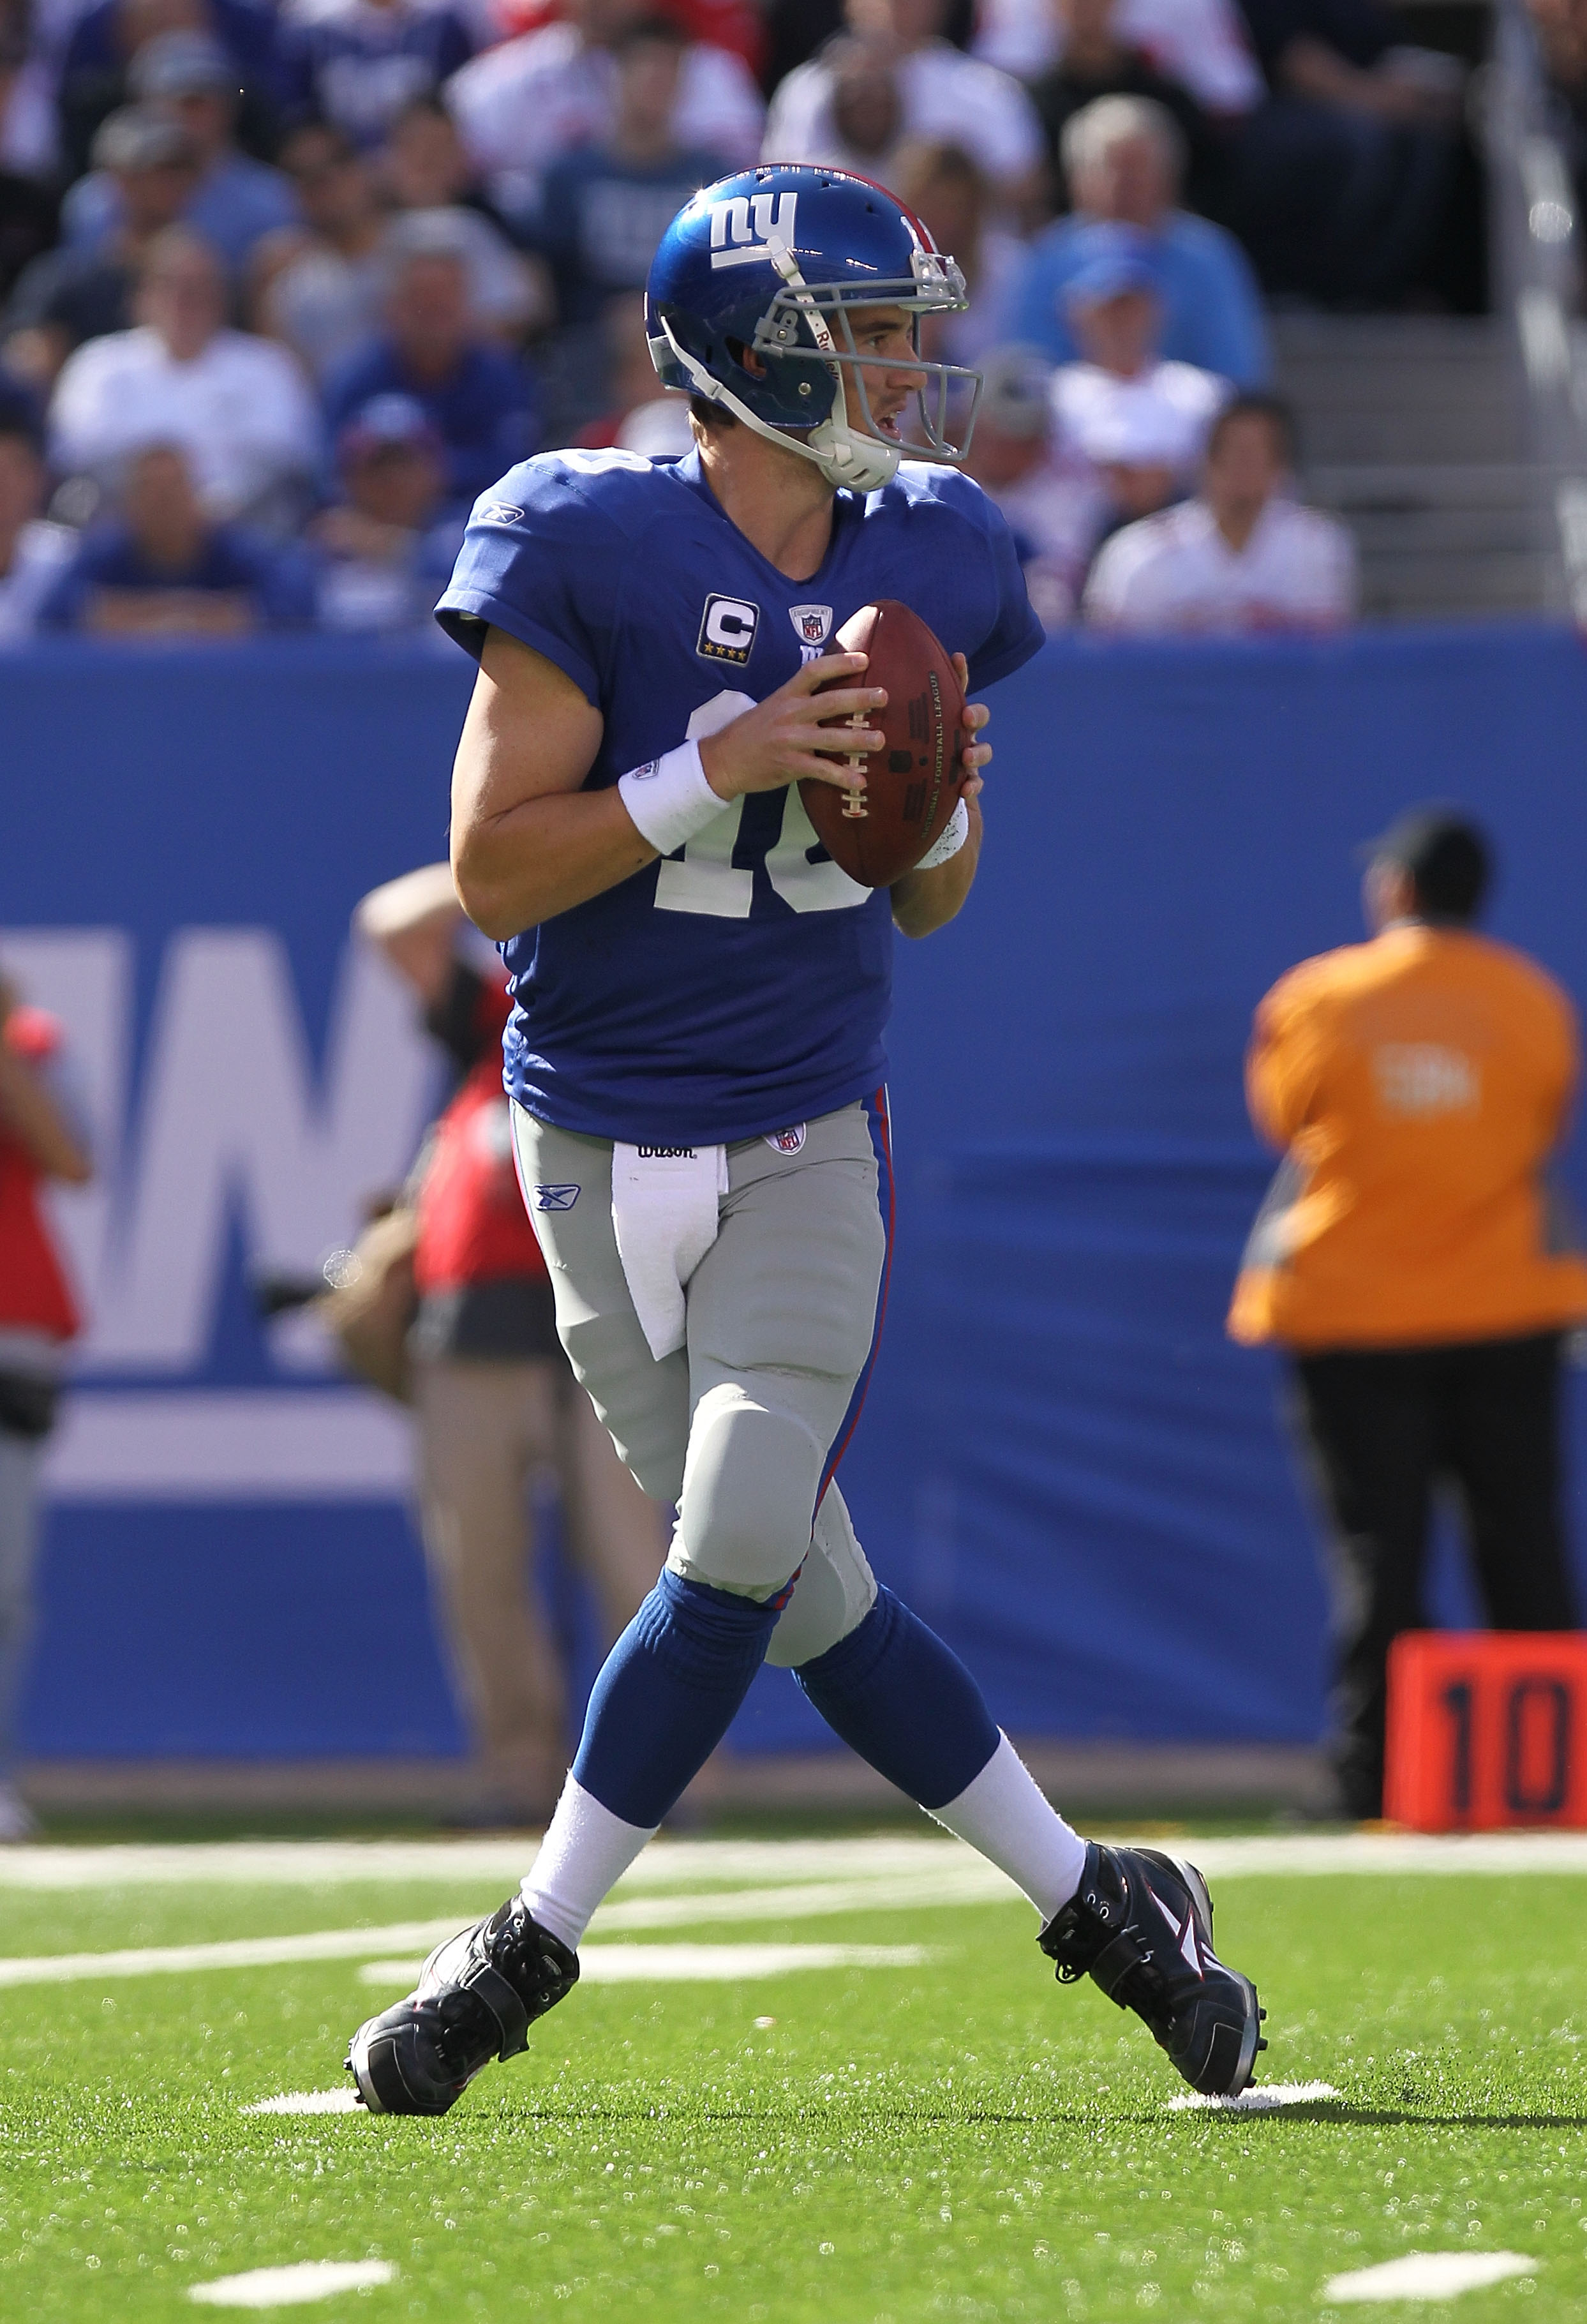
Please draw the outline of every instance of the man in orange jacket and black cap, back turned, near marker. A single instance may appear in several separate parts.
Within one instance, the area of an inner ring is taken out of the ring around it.
[[[1427,1622],[1434,1492],[1459,1501],[1494,1629],[1573,1629],[1559,1350],[1587,1260],[1547,1167],[1578,1081],[1575,1011],[1473,927],[1482,834],[1406,813],[1371,848],[1369,944],[1301,962],[1257,1009],[1250,1116],[1285,1162],[1229,1334],[1292,1357],[1334,1580],[1345,1813],[1383,1813],[1389,1641]]]

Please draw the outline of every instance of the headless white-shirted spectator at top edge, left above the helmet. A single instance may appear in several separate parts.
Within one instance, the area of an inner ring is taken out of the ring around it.
[[[613,37],[653,0],[567,0],[560,23],[486,49],[446,84],[446,102],[474,167],[504,216],[532,228],[541,179],[579,144],[604,144],[616,119]],[[674,144],[723,153],[730,165],[760,151],[764,105],[732,49],[690,42],[678,74]]]

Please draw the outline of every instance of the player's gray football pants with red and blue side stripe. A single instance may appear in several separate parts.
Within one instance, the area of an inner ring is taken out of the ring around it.
[[[871,1362],[888,1262],[864,1104],[806,1125],[797,1155],[727,1148],[720,1229],[688,1283],[688,1339],[651,1355],[611,1225],[611,1143],[514,1106],[518,1171],[555,1287],[558,1336],[634,1478],[678,1504],[667,1564],[771,1599],[804,1566],[767,1659],[846,1638],[876,1580],[830,1466]],[[576,1185],[544,1211],[537,1185]]]

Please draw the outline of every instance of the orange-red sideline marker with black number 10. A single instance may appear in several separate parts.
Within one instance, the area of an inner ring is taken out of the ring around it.
[[[1587,1827],[1587,1636],[1396,1638],[1385,1815],[1415,1831]]]

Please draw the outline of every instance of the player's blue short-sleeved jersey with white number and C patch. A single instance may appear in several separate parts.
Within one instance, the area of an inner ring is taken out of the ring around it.
[[[479,653],[486,623],[544,653],[604,718],[586,790],[776,693],[850,614],[899,597],[971,688],[1041,644],[985,493],[899,467],[839,493],[809,581],[769,565],[699,458],[541,453],[474,509],[437,609]],[[685,848],[504,948],[507,1088],[588,1136],[706,1146],[816,1120],[885,1078],[888,890],[816,839],[797,788],[734,799]]]

